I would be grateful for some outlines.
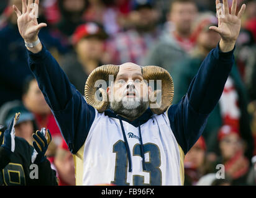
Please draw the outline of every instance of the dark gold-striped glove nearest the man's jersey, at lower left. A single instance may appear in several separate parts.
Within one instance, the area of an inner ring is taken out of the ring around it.
[[[52,135],[48,129],[45,130],[45,128],[42,128],[41,131],[36,131],[32,137],[34,139],[32,143],[34,147],[34,153],[32,154],[31,161],[32,163],[39,164],[46,159],[45,152],[47,151],[48,145],[52,140]]]

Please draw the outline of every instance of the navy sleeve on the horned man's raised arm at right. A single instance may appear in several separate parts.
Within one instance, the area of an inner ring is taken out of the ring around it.
[[[217,105],[234,64],[234,49],[222,53],[219,45],[202,62],[188,92],[168,109],[171,130],[186,154],[203,133],[209,113]]]

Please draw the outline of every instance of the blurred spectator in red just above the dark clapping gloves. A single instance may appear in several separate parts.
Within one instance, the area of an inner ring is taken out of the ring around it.
[[[62,142],[62,135],[34,77],[28,77],[25,80],[22,101],[24,106],[34,114],[37,126],[50,130],[52,142],[50,142],[48,147],[47,157],[54,157],[57,146]]]

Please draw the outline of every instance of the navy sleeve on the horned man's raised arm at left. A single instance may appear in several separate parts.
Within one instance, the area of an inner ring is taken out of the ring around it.
[[[75,154],[84,144],[95,110],[85,98],[70,84],[58,62],[43,46],[39,53],[29,54],[29,67],[39,84],[66,144]]]

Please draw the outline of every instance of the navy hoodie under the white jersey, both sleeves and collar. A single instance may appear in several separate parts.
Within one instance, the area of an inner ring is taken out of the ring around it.
[[[29,67],[52,109],[60,131],[72,153],[78,152],[85,143],[95,110],[83,95],[70,84],[58,62],[43,46],[42,51],[29,54]],[[198,74],[192,80],[185,97],[168,109],[171,129],[178,144],[186,154],[201,136],[209,113],[221,97],[229,72],[234,64],[234,49],[222,53],[217,46],[204,59]],[[107,110],[105,114],[115,116]],[[152,116],[148,109],[140,118],[129,123],[144,124]],[[126,119],[124,119],[127,121]]]

